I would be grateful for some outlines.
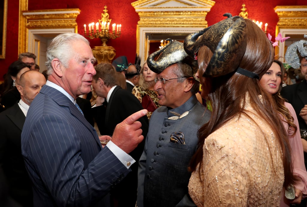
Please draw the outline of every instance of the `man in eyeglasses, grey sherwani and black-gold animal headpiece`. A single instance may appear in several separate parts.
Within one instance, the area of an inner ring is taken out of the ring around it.
[[[197,148],[197,131],[211,114],[195,95],[197,62],[183,43],[170,40],[147,64],[157,73],[154,90],[162,107],[153,112],[139,160],[137,206],[196,206],[188,195],[188,165]]]

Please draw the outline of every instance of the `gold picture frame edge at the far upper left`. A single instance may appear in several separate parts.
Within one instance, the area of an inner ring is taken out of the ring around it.
[[[7,1],[8,0],[0,0],[0,59],[5,59]]]

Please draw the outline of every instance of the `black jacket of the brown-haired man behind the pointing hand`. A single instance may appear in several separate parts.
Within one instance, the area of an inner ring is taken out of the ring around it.
[[[104,106],[94,107],[93,115],[97,122],[99,123],[99,119],[105,119],[105,126],[99,126],[100,128],[105,128],[107,135],[112,135],[115,129],[115,126],[126,119],[128,116],[142,110],[143,107],[140,101],[129,91],[126,89],[122,89],[120,86],[115,87],[112,92],[109,102],[107,103],[107,108],[105,111],[105,117],[103,117]],[[144,136],[144,140],[135,148],[132,152],[130,152],[130,156],[136,160],[136,163],[133,164],[130,169],[132,170],[126,178],[122,180],[116,187],[111,189],[111,199],[118,203],[118,206],[135,206],[136,195],[137,195],[137,183],[138,183],[138,160],[140,159],[144,145],[145,145],[145,137],[148,132],[148,119],[147,116],[143,116],[139,119],[142,123],[142,135]],[[129,141],[129,140],[127,140]],[[111,200],[111,202],[112,202]]]

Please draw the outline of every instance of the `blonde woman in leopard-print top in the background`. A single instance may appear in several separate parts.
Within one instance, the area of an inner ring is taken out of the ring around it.
[[[140,71],[139,84],[132,89],[132,94],[142,103],[143,108],[148,110],[148,121],[150,121],[153,111],[160,107],[158,95],[153,90],[155,77],[157,77],[157,73],[150,70],[145,62]]]

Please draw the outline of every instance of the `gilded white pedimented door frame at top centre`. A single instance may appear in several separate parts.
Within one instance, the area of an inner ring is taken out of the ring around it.
[[[211,0],[175,0],[174,2],[185,6],[164,7],[165,2],[168,0],[139,0],[131,3],[140,17],[136,31],[136,52],[141,55],[142,60],[147,58],[149,51],[150,40],[147,33],[192,33],[206,28],[207,13],[215,4]]]

